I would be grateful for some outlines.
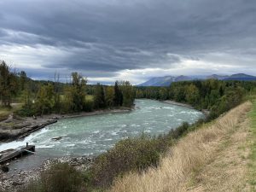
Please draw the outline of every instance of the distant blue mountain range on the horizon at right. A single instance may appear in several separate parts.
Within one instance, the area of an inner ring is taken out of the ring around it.
[[[237,73],[232,75],[218,75],[212,74],[210,76],[165,76],[165,77],[155,77],[149,79],[143,84],[137,84],[137,86],[169,86],[173,82],[178,81],[190,81],[190,80],[205,80],[205,79],[218,79],[218,80],[241,80],[241,81],[252,81],[256,80],[255,76],[247,75],[244,73]]]

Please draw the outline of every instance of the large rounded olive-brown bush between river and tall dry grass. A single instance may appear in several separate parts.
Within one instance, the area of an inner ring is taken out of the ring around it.
[[[166,151],[166,144],[163,143],[166,141],[144,134],[119,141],[107,153],[99,155],[90,167],[92,185],[106,187],[114,177],[120,177],[125,172],[141,172],[148,166],[158,166],[160,154]]]

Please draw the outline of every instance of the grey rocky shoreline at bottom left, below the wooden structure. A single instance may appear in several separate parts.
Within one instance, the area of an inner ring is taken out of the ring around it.
[[[55,163],[68,163],[70,166],[75,167],[78,171],[83,172],[90,167],[92,162],[93,158],[90,157],[66,156],[44,160],[42,166],[28,171],[15,170],[14,173],[0,171],[0,191],[9,190],[15,192],[17,189],[26,185],[26,183],[29,183],[31,180],[37,179],[40,172],[44,172]]]

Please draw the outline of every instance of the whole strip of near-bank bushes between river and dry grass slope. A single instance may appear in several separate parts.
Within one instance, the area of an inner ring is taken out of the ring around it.
[[[67,165],[54,165],[50,167],[49,171],[43,172],[39,180],[29,184],[25,189],[21,189],[20,192],[61,191],[58,190],[58,186],[61,186],[61,189],[64,187],[71,189],[74,183],[73,177],[78,179],[75,185],[76,189],[83,189],[83,192],[108,189],[114,179],[122,177],[127,172],[143,172],[148,167],[157,167],[160,163],[160,156],[165,155],[178,138],[195,130],[202,122],[200,120],[194,125],[183,123],[177,129],[159,137],[143,134],[141,137],[121,140],[108,152],[96,157],[92,166],[85,172],[75,172],[72,167]],[[78,175],[79,177],[77,177]],[[63,182],[66,180],[67,183]]]

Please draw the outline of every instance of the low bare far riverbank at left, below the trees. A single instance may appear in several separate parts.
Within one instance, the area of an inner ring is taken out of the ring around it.
[[[1,142],[12,142],[27,137],[34,131],[43,129],[47,125],[54,124],[58,119],[70,119],[86,117],[106,113],[128,113],[133,108],[114,108],[98,110],[94,112],[71,113],[71,114],[49,114],[35,118],[20,118],[10,115],[8,119],[0,122],[0,144]]]

